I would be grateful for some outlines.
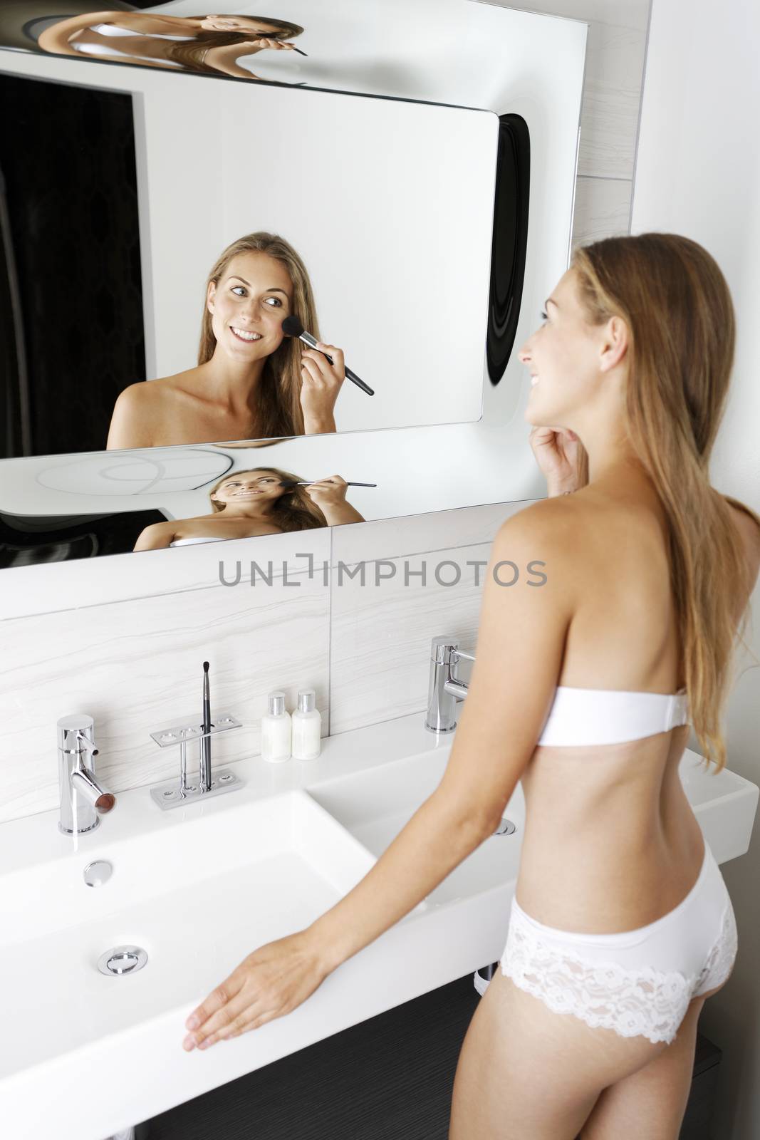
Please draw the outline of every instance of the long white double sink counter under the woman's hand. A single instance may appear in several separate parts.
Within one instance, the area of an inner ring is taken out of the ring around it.
[[[309,926],[374,865],[440,783],[451,740],[414,714],[328,738],[312,762],[235,765],[245,787],[161,812],[117,795],[97,831],[57,812],[0,825],[0,1132],[104,1140],[210,1089],[493,962],[507,934],[524,824],[517,785],[492,836],[427,899],[333,971],[297,1009],[210,1050],[181,1048],[185,1019],[253,950]],[[718,862],[746,852],[758,788],[681,780]],[[84,868],[113,865],[88,887]],[[137,945],[147,962],[105,976]]]

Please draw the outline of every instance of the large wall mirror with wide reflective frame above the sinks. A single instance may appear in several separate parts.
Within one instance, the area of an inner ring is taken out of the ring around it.
[[[530,496],[585,48],[476,0],[3,5],[0,565]]]

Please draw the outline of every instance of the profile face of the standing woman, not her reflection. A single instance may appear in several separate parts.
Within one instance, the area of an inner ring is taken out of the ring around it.
[[[561,277],[541,317],[542,325],[518,353],[531,374],[525,420],[536,426],[566,427],[575,410],[593,399],[599,380],[602,328],[588,323],[574,269]]]

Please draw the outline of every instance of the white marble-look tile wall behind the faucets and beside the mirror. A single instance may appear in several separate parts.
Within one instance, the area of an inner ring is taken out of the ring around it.
[[[574,243],[629,229],[648,8],[648,0],[533,6],[590,21]],[[272,689],[284,689],[293,708],[299,686],[316,687],[324,735],[422,715],[430,638],[452,633],[464,649],[474,648],[481,586],[467,563],[488,560],[500,523],[526,505],[228,543],[223,577],[231,580],[240,560],[236,586],[221,584],[215,549],[172,551],[171,565],[167,552],[146,552],[133,575],[130,563],[133,589],[125,601],[114,600],[124,593],[122,581],[114,588],[116,578],[126,572],[119,559],[108,560],[108,575],[75,563],[13,571],[24,579],[19,586],[15,578],[0,597],[0,822],[57,806],[56,720],[67,712],[95,717],[97,771],[114,791],[171,776],[179,758],[148,734],[197,712],[204,659],[214,708],[244,722],[216,741],[219,762],[259,752],[259,720]],[[269,585],[256,575],[251,585],[252,557],[262,569],[271,562]],[[341,577],[341,565],[356,572],[359,563],[365,585]],[[423,563],[424,587],[415,575]],[[81,584],[65,609],[56,598],[59,573]],[[456,584],[443,585],[450,580]]]

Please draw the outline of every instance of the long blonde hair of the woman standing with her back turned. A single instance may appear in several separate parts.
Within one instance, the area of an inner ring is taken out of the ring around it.
[[[710,486],[709,461],[734,363],[734,306],[714,259],[677,234],[610,237],[575,250],[572,268],[594,325],[612,316],[630,333],[626,412],[636,456],[665,510],[671,588],[685,660],[690,722],[705,758],[720,772],[720,718],[733,678],[735,600],[750,564],[728,503]],[[588,453],[578,474],[588,482]]]

